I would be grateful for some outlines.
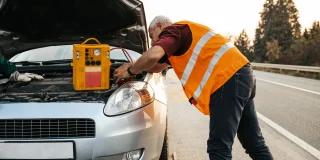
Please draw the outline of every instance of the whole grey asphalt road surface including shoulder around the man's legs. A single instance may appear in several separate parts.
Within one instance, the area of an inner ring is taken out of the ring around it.
[[[256,110],[276,124],[320,148],[320,95],[281,86],[267,81],[283,83],[306,90],[320,91],[320,81],[255,71],[257,80]],[[288,78],[288,79],[286,79]],[[169,95],[169,150],[174,159],[205,160],[209,117],[191,106],[172,70],[167,74]],[[262,133],[275,159],[316,159],[285,136],[259,120]],[[249,160],[238,139],[233,146],[233,159]]]

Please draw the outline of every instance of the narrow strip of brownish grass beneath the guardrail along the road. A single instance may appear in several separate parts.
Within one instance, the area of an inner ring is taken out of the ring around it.
[[[271,72],[271,73],[278,73],[284,75],[290,75],[295,77],[304,77],[304,78],[311,78],[320,80],[320,73],[312,73],[312,72],[303,72],[303,71],[292,71],[292,70],[283,70],[283,69],[272,69],[272,68],[264,68],[264,67],[253,67],[254,70],[264,71],[264,72]]]

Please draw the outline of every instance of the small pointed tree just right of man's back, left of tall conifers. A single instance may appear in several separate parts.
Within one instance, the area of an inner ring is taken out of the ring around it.
[[[249,61],[253,61],[253,53],[251,52],[250,40],[248,34],[243,29],[239,37],[235,39],[234,45],[240,50],[240,52],[246,56]]]

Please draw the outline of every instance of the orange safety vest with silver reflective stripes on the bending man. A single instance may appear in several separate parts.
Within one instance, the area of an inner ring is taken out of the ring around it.
[[[228,39],[209,27],[190,21],[192,43],[181,56],[170,56],[169,61],[183,86],[190,103],[209,115],[210,95],[226,83],[249,60]]]

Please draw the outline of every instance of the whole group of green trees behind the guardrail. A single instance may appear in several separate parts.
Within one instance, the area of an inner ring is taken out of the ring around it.
[[[266,0],[260,18],[253,46],[244,31],[235,43],[250,61],[320,66],[320,23],[302,32],[293,0]]]

